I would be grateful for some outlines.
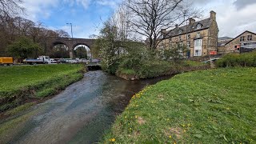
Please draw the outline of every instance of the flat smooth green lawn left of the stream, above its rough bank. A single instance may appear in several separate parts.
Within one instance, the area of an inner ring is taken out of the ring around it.
[[[78,68],[78,65],[2,66],[0,68],[0,90],[15,90],[23,86],[34,85]]]

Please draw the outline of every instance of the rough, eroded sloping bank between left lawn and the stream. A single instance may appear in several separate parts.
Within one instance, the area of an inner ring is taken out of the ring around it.
[[[24,110],[28,110],[31,106],[45,102],[47,99],[54,97],[61,93],[62,90],[65,90],[67,86],[80,81],[86,71],[86,66],[81,66],[79,70],[73,70],[68,74],[58,75],[57,77],[37,83],[34,86],[26,86],[18,90],[6,92],[6,95],[9,96],[0,99],[0,119],[8,118]],[[57,84],[51,85],[51,83]],[[50,86],[38,89],[46,85]],[[28,105],[26,106],[26,104]]]

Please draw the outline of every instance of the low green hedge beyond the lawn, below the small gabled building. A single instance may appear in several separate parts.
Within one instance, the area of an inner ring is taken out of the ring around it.
[[[226,54],[216,62],[218,67],[256,66],[256,51],[244,54]]]

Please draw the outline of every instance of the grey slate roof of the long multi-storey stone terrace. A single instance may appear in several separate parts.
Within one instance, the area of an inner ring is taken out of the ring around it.
[[[210,24],[212,22],[213,22],[212,19],[206,18],[201,21],[194,22],[191,26],[185,25],[185,26],[176,27],[173,30],[168,30],[165,32],[165,34],[168,34],[167,38],[170,38],[170,37],[174,37],[174,36],[178,36],[178,35],[182,35],[182,34],[188,34],[188,33],[194,32],[194,31],[198,31],[198,30],[205,30],[210,27]],[[197,29],[198,23],[200,23],[202,25],[201,28],[199,28],[199,29]],[[178,33],[179,30],[182,30],[182,33]]]

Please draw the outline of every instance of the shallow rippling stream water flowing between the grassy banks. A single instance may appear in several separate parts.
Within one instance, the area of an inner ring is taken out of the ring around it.
[[[135,93],[168,78],[126,81],[101,70],[89,71],[81,81],[34,106],[32,116],[8,143],[98,142]]]

